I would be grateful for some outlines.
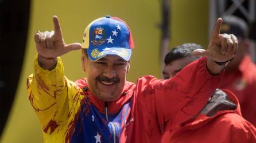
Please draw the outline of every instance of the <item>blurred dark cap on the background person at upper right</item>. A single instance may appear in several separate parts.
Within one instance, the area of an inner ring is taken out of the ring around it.
[[[247,38],[248,26],[242,18],[227,15],[223,17],[220,33],[234,34],[236,37]]]

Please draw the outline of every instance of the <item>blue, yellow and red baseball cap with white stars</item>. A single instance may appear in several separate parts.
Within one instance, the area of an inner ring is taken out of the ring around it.
[[[82,47],[91,61],[97,61],[106,55],[118,55],[129,61],[134,43],[126,22],[107,15],[92,21],[86,27]]]

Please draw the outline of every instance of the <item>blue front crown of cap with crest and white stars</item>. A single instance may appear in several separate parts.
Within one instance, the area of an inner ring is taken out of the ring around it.
[[[122,21],[101,18],[92,23],[89,31],[89,49],[99,47],[129,48],[129,29]]]

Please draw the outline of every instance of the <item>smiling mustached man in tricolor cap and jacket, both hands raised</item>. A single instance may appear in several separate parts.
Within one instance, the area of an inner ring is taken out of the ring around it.
[[[172,80],[143,76],[134,84],[126,81],[133,38],[122,19],[91,22],[83,45],[65,44],[56,16],[53,23],[55,31],[34,36],[38,54],[28,78],[29,100],[45,142],[160,142],[166,130],[203,108],[210,97],[205,95],[222,77],[223,62],[238,46],[234,35],[219,34],[219,18],[208,49],[193,51],[204,58]],[[59,56],[77,49],[82,49],[87,78],[72,82],[64,77]]]

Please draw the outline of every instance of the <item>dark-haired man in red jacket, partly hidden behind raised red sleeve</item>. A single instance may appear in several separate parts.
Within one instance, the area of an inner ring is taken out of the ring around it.
[[[192,55],[196,49],[203,47],[185,43],[170,50],[165,56],[163,77],[173,78],[200,58]],[[256,142],[256,129],[241,116],[234,94],[217,89],[199,113],[166,132],[162,142]]]

